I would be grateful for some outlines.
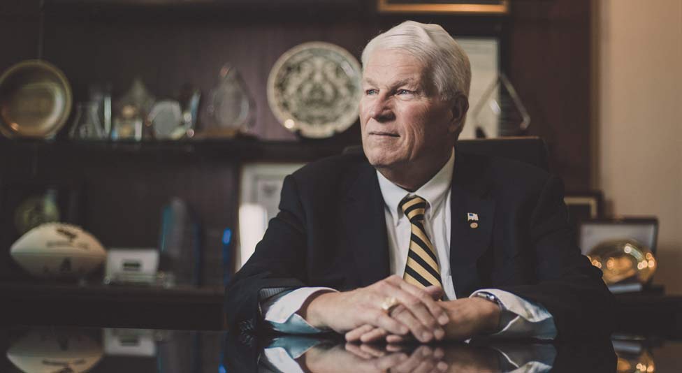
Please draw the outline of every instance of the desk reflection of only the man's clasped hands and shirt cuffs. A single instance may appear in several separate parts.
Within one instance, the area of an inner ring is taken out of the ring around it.
[[[263,349],[259,371],[549,372],[555,358],[551,344],[373,346],[288,336]]]

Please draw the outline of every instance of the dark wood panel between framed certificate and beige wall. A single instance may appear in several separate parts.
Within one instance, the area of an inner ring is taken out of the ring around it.
[[[567,190],[590,187],[590,1],[514,0],[507,71]]]

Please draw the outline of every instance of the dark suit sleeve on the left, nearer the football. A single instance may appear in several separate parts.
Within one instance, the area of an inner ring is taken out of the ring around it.
[[[231,330],[262,327],[260,303],[282,291],[305,286],[305,213],[296,181],[284,179],[280,212],[270,220],[263,240],[225,291],[225,312]]]

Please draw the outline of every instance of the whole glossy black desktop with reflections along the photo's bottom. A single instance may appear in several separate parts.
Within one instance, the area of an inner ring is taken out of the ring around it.
[[[615,347],[615,350],[614,350]],[[651,339],[432,345],[197,330],[0,329],[0,372],[667,372],[682,343]],[[662,357],[657,361],[657,356]]]

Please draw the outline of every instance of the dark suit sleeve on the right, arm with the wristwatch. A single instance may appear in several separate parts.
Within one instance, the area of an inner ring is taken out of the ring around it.
[[[543,305],[553,316],[557,339],[608,336],[614,330],[615,300],[602,271],[581,254],[563,202],[563,184],[551,176],[530,218],[537,284],[501,290]]]

